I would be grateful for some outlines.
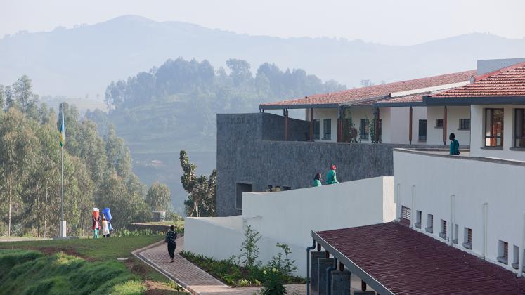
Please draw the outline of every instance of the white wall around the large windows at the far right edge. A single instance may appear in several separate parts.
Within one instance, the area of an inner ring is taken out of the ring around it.
[[[503,108],[503,150],[481,148],[485,145],[484,110],[486,108]],[[514,147],[514,109],[517,108],[525,108],[525,105],[472,105],[470,155],[525,161],[525,151],[510,150],[510,147]]]

